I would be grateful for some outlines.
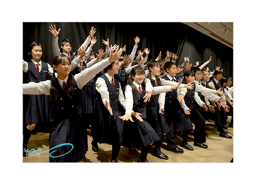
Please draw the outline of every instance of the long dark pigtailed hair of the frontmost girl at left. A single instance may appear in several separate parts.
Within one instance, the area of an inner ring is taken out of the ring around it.
[[[68,60],[69,63],[71,63],[69,57],[67,57],[64,54],[59,54],[57,56],[54,57],[53,59],[53,65],[55,65],[56,67],[64,60]],[[49,98],[49,103],[51,105],[53,105],[56,101],[57,101],[57,97],[59,96],[59,92],[58,92],[58,87],[59,87],[59,82],[58,79],[55,77],[55,70],[53,70],[53,76],[51,78],[51,89],[50,89],[50,98]],[[76,94],[76,91],[74,89],[75,84],[73,82],[73,76],[71,73],[69,73],[68,75],[68,81],[67,81],[67,88],[66,88],[66,93],[67,93],[67,97],[71,97],[70,100],[73,99],[73,97]]]

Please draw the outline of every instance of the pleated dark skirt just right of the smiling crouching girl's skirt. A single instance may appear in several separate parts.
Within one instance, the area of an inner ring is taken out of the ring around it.
[[[147,106],[146,117],[147,123],[152,126],[157,134],[170,132],[165,116],[159,113],[159,105]]]

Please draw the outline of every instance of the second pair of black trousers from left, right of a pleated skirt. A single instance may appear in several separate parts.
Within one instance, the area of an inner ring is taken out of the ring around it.
[[[188,116],[195,124],[194,143],[205,143],[205,120],[197,107],[190,110]]]

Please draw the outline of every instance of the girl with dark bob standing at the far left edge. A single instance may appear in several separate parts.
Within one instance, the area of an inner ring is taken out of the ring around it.
[[[48,75],[53,75],[53,68],[41,60],[43,54],[42,46],[39,42],[32,42],[29,46],[28,62],[23,60],[23,83],[48,80]],[[23,95],[24,123],[26,129],[23,138],[23,157],[27,157],[27,145],[31,134],[36,134],[34,130],[38,123],[47,123],[54,118],[54,111],[48,104],[47,95]]]

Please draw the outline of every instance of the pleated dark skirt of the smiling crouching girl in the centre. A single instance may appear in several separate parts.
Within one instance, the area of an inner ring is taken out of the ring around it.
[[[146,122],[146,119],[143,122],[135,117],[132,117],[132,119],[134,122],[130,120],[124,122],[124,142],[122,146],[127,148],[141,148],[159,140],[158,134]]]

